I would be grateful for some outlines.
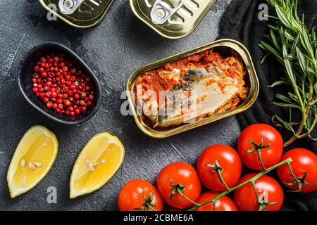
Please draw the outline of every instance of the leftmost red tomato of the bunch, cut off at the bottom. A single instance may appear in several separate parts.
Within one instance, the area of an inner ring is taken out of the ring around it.
[[[163,210],[163,199],[157,189],[144,180],[129,181],[118,195],[120,211]]]

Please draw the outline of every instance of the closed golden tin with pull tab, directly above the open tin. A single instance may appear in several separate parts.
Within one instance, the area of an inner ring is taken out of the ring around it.
[[[216,0],[130,0],[133,13],[168,39],[187,36]]]

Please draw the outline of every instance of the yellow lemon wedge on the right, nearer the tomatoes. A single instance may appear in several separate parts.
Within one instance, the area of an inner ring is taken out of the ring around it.
[[[70,198],[104,186],[120,168],[125,156],[121,141],[108,133],[97,134],[78,156],[70,176]]]

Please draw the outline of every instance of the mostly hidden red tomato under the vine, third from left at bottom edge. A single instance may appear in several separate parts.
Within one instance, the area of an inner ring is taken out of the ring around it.
[[[196,203],[206,203],[207,201],[215,198],[217,195],[220,195],[220,192],[208,191],[200,195]],[[195,205],[192,205],[194,207]],[[214,211],[213,203],[208,203],[197,208],[195,211]],[[237,206],[235,203],[228,197],[223,196],[216,201],[216,211],[237,211]]]

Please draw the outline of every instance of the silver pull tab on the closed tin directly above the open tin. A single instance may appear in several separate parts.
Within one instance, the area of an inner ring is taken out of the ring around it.
[[[185,0],[181,0],[180,4],[175,8],[170,8],[162,0],[156,0],[151,10],[152,23],[161,25],[174,15],[184,4]]]

